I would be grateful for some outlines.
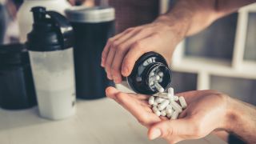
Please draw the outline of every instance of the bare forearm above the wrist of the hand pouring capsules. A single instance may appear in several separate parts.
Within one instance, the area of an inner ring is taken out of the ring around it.
[[[185,38],[252,2],[256,0],[178,0],[174,8],[157,21],[168,22],[178,30],[178,37]]]

